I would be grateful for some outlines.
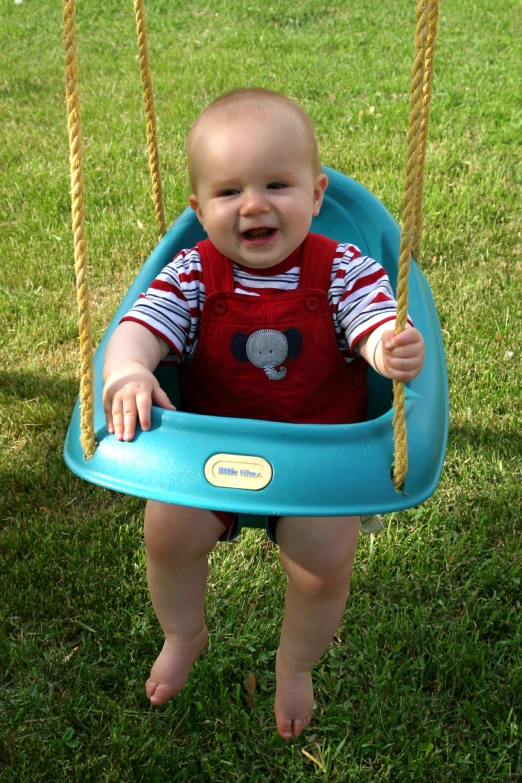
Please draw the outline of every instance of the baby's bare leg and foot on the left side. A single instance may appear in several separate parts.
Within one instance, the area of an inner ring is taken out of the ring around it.
[[[152,704],[163,704],[182,690],[190,667],[207,643],[207,553],[223,529],[210,511],[154,500],[147,503],[147,577],[165,634],[163,649],[145,686]]]

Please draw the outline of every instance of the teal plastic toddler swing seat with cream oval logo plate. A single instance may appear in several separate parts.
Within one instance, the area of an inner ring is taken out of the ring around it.
[[[397,281],[400,229],[362,185],[325,169],[329,186],[312,230],[357,245]],[[406,388],[409,468],[402,492],[392,484],[391,382],[369,371],[368,419],[361,424],[284,424],[202,416],[153,407],[152,428],[130,443],[109,435],[102,406],[104,349],[139,294],[182,248],[204,233],[187,209],[161,240],[125,296],[96,351],[94,426],[98,447],[87,461],[80,445],[79,402],[65,442],[65,461],[81,478],[118,492],[167,503],[235,511],[243,525],[261,527],[260,515],[376,514],[416,506],[437,486],[448,433],[444,349],[428,283],[415,262],[409,313],[426,341],[426,363]],[[158,377],[177,403],[176,371]],[[219,485],[216,485],[217,484]]]

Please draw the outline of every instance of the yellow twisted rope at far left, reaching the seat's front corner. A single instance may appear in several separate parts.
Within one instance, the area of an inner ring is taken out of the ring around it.
[[[76,7],[74,0],[63,3],[63,37],[65,45],[65,93],[69,130],[71,169],[71,214],[74,236],[74,269],[80,332],[80,441],[86,459],[96,450],[94,436],[94,367],[89,285],[87,279],[87,240],[85,235],[85,187],[83,181],[82,136],[80,128],[80,95],[76,59]]]

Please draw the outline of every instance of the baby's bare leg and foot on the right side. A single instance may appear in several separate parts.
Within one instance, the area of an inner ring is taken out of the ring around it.
[[[285,739],[312,718],[312,669],[341,622],[358,533],[358,517],[285,517],[277,525],[288,585],[274,711]]]

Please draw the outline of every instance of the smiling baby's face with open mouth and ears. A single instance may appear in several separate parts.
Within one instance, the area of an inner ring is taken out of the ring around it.
[[[218,250],[242,266],[283,261],[319,214],[327,178],[314,169],[300,119],[285,107],[209,118],[194,162],[189,203]]]

